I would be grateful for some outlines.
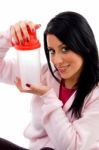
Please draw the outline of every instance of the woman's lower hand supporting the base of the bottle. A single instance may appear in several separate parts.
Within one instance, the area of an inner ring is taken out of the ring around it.
[[[25,90],[22,88],[20,78],[16,78],[15,85],[19,89],[20,92],[32,93],[32,94],[36,94],[38,96],[44,95],[51,89],[51,87],[48,87],[48,86],[44,86],[44,85],[36,86],[36,85],[27,83],[26,87],[28,87],[28,89]]]

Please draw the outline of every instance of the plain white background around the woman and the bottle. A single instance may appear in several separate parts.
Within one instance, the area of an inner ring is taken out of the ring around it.
[[[41,40],[41,59],[45,63],[43,51],[43,31],[47,22],[61,11],[81,13],[91,25],[97,44],[99,43],[99,5],[98,0],[0,0],[0,31],[7,30],[11,24],[20,20],[40,23],[38,31]],[[10,49],[9,56],[15,51]],[[23,131],[30,119],[31,95],[20,93],[16,87],[0,83],[0,137],[24,147],[28,140]]]

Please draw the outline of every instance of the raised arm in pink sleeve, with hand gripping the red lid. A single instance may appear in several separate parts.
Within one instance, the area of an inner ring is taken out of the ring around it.
[[[29,40],[27,26],[31,31],[39,28],[30,21],[20,21],[11,26],[9,31],[0,35],[0,82],[14,84],[16,77],[19,76],[16,58],[8,59],[5,56],[12,46],[12,39],[16,44],[23,44],[24,40]]]

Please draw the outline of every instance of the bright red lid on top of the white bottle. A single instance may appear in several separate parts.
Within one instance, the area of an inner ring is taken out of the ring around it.
[[[24,35],[22,34],[23,39],[24,39],[23,40],[24,44],[19,43],[18,45],[17,44],[13,45],[17,50],[27,51],[27,50],[35,50],[37,48],[40,48],[41,44],[40,44],[40,41],[37,39],[36,31],[32,32],[28,26],[27,26],[27,30],[28,30],[30,39],[29,41],[27,41]]]

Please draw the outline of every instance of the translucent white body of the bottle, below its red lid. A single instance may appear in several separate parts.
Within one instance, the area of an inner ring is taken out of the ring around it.
[[[40,50],[17,50],[19,75],[23,89],[28,89],[26,84],[40,83]]]

